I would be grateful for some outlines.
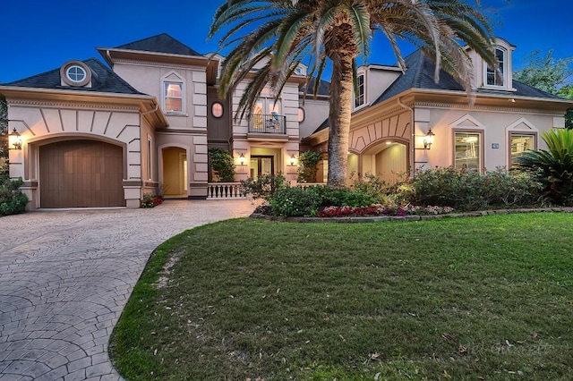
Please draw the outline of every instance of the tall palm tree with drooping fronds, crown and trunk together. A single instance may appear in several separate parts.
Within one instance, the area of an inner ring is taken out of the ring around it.
[[[432,56],[435,80],[443,68],[468,93],[473,71],[462,43],[492,67],[495,64],[491,29],[465,0],[227,0],[210,28],[210,38],[221,32],[220,47],[230,48],[219,95],[227,97],[255,66],[260,67],[249,77],[235,115],[244,117],[266,85],[278,97],[298,63],[308,63],[309,79],[320,79],[330,62],[328,185],[344,187],[356,58],[369,55],[375,31],[388,38],[402,70],[406,67],[398,39]],[[319,82],[314,80],[315,94]]]

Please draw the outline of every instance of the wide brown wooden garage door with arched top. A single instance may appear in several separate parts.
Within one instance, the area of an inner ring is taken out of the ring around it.
[[[94,140],[39,148],[41,207],[124,207],[123,149]]]

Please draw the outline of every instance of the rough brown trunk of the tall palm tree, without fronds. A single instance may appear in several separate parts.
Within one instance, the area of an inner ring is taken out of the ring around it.
[[[348,168],[348,135],[352,114],[353,55],[338,52],[331,55],[332,78],[329,97],[329,188],[346,187]]]

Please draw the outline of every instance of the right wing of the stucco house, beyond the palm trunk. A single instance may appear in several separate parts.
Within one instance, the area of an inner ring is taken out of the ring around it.
[[[498,75],[468,51],[475,69],[471,98],[447,72],[436,83],[435,65],[420,50],[406,57],[404,73],[398,66],[358,68],[348,174],[395,182],[416,168],[510,168],[519,152],[546,148],[540,132],[564,128],[573,101],[513,80],[516,47],[502,38],[494,47]],[[328,121],[303,143],[326,154]]]

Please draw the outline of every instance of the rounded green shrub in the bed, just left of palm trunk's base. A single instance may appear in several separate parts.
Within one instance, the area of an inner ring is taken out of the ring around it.
[[[286,187],[277,190],[269,203],[276,216],[315,216],[321,197],[308,189]]]

